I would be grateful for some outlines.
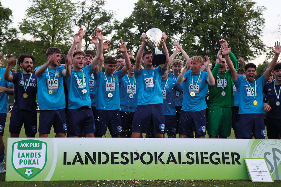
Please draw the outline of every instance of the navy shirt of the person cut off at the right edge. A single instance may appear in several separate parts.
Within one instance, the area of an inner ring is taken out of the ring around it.
[[[281,84],[276,85],[276,93],[274,90],[274,82],[266,83],[264,86],[263,93],[266,94],[267,100],[269,101],[269,105],[271,106],[271,110],[268,112],[267,116],[271,118],[281,119],[281,106],[277,106],[276,102],[279,101],[281,103],[281,94],[277,99],[278,92],[280,89]]]

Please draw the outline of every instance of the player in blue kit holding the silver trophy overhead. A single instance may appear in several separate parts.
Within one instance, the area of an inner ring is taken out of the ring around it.
[[[131,137],[138,138],[141,132],[147,132],[150,119],[153,122],[153,132],[155,138],[163,138],[165,130],[165,118],[163,111],[163,95],[161,88],[161,79],[168,67],[169,54],[166,46],[167,35],[163,34],[163,49],[166,53],[166,62],[164,65],[159,65],[153,68],[152,52],[143,53],[145,40],[147,35],[143,34],[142,45],[137,52],[135,77],[137,80],[137,109],[134,114],[132,135]],[[144,69],[141,68],[142,62]]]

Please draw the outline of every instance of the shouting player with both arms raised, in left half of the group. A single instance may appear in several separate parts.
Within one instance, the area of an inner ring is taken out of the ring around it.
[[[68,56],[72,57],[74,68],[71,75],[65,78],[68,90],[68,110],[67,110],[67,134],[69,137],[78,137],[80,132],[86,137],[95,137],[95,120],[92,112],[92,102],[89,93],[89,82],[92,73],[97,74],[98,62],[100,61],[103,45],[103,32],[96,30],[99,46],[95,58],[84,68],[83,51],[74,51],[75,46],[82,40],[79,33],[75,34]]]

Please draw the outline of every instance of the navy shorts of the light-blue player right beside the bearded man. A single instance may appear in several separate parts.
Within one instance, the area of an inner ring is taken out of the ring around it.
[[[66,132],[65,110],[40,110],[38,132],[50,134],[50,130],[54,127],[55,133]]]

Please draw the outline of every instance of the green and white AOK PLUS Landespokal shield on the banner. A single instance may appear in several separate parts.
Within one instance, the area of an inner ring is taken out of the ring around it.
[[[22,140],[12,146],[12,165],[22,177],[30,179],[43,170],[47,162],[47,144],[39,140]]]

